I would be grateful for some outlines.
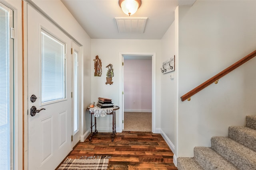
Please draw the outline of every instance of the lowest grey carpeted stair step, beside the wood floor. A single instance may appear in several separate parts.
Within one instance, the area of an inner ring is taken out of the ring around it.
[[[204,170],[194,158],[177,158],[178,170]]]

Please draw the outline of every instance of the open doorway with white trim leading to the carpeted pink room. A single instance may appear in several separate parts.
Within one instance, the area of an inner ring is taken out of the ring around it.
[[[122,131],[154,133],[155,54],[120,53],[120,58],[124,63],[120,77],[120,127]]]

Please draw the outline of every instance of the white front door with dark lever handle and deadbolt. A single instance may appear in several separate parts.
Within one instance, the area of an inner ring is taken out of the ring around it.
[[[28,169],[53,170],[72,150],[71,39],[27,11]]]

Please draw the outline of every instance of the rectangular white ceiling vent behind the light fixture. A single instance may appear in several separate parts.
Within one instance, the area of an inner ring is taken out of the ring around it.
[[[119,33],[144,33],[148,18],[115,18]]]

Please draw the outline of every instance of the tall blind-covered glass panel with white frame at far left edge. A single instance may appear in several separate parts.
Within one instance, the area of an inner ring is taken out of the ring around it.
[[[14,145],[13,11],[0,2],[0,170],[12,170]]]

